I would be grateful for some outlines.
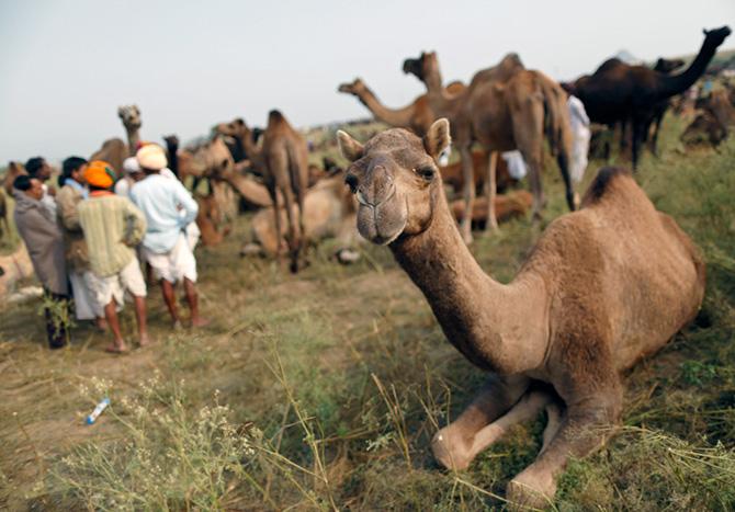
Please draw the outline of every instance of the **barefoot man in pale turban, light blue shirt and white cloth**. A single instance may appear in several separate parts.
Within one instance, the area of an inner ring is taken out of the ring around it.
[[[204,326],[207,322],[200,317],[195,286],[196,260],[184,235],[186,225],[196,217],[199,206],[179,180],[160,174],[167,164],[163,148],[149,144],[142,147],[136,157],[146,178],[133,186],[131,200],[143,211],[148,223],[143,239],[145,258],[160,280],[163,300],[173,325],[181,325],[173,285],[183,281],[191,325]]]

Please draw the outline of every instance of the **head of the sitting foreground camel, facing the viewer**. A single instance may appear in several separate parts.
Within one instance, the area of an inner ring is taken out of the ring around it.
[[[360,235],[386,246],[426,230],[443,194],[437,158],[450,144],[449,122],[436,121],[422,139],[403,128],[382,132],[364,146],[342,130],[337,138],[352,162],[344,182],[359,203]]]

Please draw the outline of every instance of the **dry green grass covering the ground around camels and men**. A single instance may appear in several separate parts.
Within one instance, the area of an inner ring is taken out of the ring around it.
[[[681,124],[665,126],[666,150],[644,157],[636,178],[702,248],[704,307],[626,376],[624,428],[570,463],[559,510],[735,509],[735,140],[686,153]],[[562,186],[553,171],[544,181],[551,220],[564,213]],[[359,263],[337,266],[327,241],[292,276],[236,255],[247,229],[241,218],[222,246],[197,250],[211,326],[171,331],[152,288],[157,343],[129,356],[104,354],[106,338],[83,326],[50,352],[36,303],[0,306],[0,508],[502,509],[508,480],[540,448],[543,418],[466,471],[439,469],[431,436],[484,376],[444,340],[388,251],[366,246]],[[519,219],[473,251],[507,282],[533,240]],[[83,425],[104,396],[111,407]]]

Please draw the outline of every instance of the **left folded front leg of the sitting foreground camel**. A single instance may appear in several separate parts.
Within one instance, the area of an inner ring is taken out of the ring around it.
[[[433,436],[431,450],[434,458],[448,469],[466,468],[483,450],[483,443],[487,446],[493,442],[493,429],[478,440],[477,434],[505,414],[527,391],[529,384],[530,380],[521,376],[490,377],[470,407]]]

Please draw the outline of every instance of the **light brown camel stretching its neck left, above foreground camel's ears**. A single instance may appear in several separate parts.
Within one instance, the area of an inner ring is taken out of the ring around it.
[[[408,128],[419,137],[426,134],[431,123],[437,118],[427,94],[421,94],[409,105],[402,109],[388,109],[383,105],[375,96],[373,91],[360,78],[355,78],[352,83],[342,83],[337,88],[339,92],[352,94],[368,107],[377,121],[394,126],[396,128]],[[464,90],[462,82],[455,81],[446,86],[449,94],[457,94]]]

